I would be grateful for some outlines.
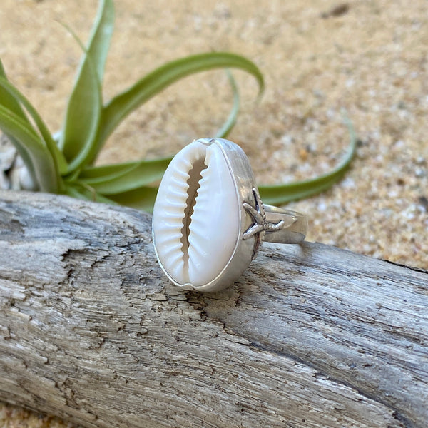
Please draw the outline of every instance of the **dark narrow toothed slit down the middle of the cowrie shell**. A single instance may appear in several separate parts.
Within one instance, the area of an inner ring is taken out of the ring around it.
[[[196,196],[198,195],[198,190],[200,188],[200,180],[202,180],[202,171],[205,170],[207,165],[205,165],[205,156],[199,158],[193,163],[193,167],[189,170],[189,178],[187,180],[188,184],[188,198],[185,202],[184,218],[183,218],[183,228],[181,229],[181,245],[183,250],[183,262],[184,262],[184,271],[188,272],[189,264],[189,235],[190,235],[190,223],[192,222],[193,210],[195,208]]]

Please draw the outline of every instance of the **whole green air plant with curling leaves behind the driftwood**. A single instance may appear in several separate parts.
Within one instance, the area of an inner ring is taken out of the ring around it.
[[[0,128],[14,144],[24,163],[20,187],[105,203],[119,203],[151,211],[156,183],[162,178],[171,157],[114,165],[94,165],[107,138],[132,111],[193,73],[213,68],[238,68],[253,75],[263,93],[263,75],[247,58],[226,52],[186,56],[165,63],[143,76],[133,86],[104,102],[101,84],[108,47],[113,33],[113,0],[101,0],[88,45],[83,49],[76,83],[68,99],[63,127],[51,133],[29,100],[6,78],[0,61]],[[238,88],[230,72],[233,107],[215,137],[225,137],[233,128],[239,109]],[[352,128],[350,128],[352,131]],[[304,182],[261,186],[266,203],[284,203],[307,197],[339,180],[355,152],[351,132],[350,151],[330,173]]]

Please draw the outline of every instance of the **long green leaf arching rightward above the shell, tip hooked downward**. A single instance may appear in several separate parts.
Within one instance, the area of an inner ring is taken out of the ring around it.
[[[263,92],[264,82],[262,73],[253,62],[243,56],[227,52],[210,52],[208,54],[186,56],[185,58],[171,61],[156,68],[156,70],[143,77],[135,85],[131,86],[131,88],[128,88],[107,103],[103,108],[101,118],[98,151],[118,124],[131,111],[148,101],[149,98],[155,96],[180,78],[213,68],[240,68],[241,70],[248,71],[248,73],[257,79],[260,93]]]

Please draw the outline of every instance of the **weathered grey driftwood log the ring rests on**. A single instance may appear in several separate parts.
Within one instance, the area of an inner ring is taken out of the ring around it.
[[[84,427],[427,427],[428,273],[265,244],[170,285],[151,218],[0,192],[0,400]]]

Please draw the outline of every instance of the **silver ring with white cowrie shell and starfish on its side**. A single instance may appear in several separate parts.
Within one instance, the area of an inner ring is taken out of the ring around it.
[[[263,241],[300,243],[307,218],[264,205],[244,151],[200,138],[168,165],[153,208],[153,244],[168,278],[186,290],[233,284]]]

